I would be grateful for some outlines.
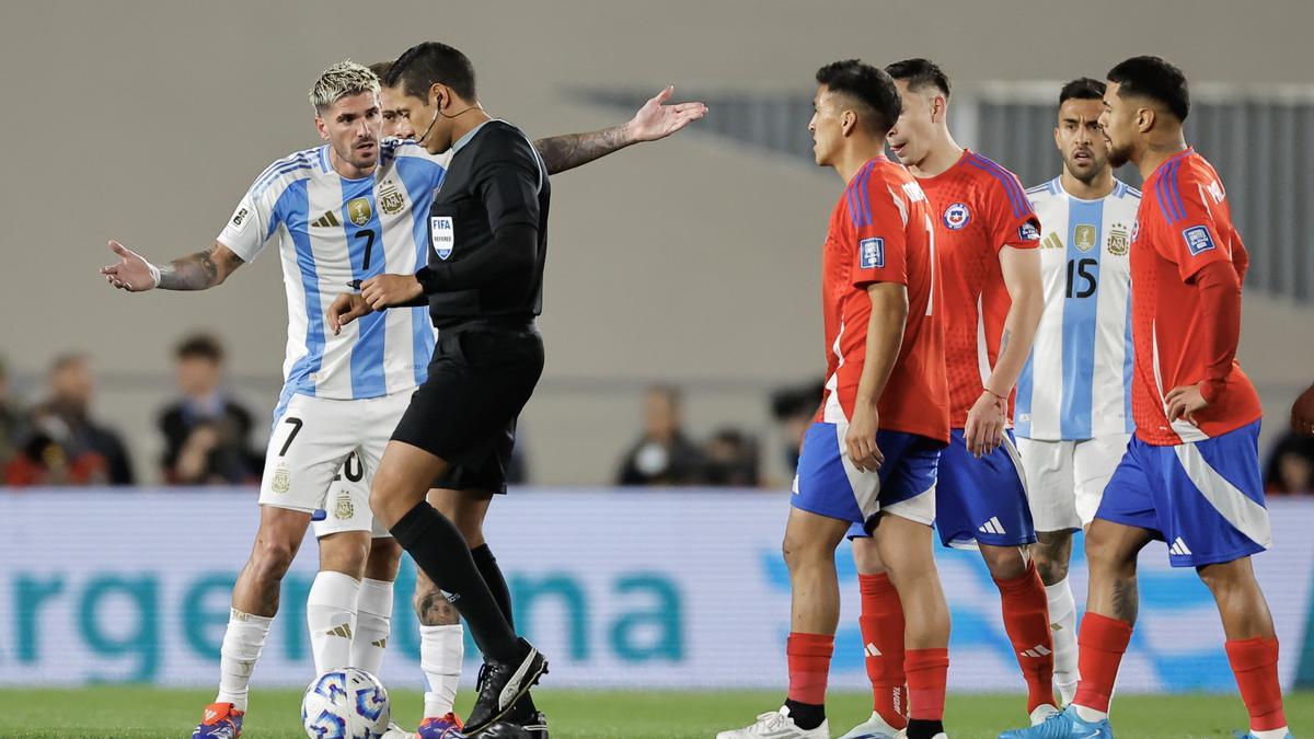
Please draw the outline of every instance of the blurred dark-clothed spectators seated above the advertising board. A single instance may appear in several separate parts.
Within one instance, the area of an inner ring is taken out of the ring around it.
[[[163,450],[154,460],[131,459],[129,444],[112,419],[95,416],[96,372],[89,354],[55,356],[43,387],[18,392],[0,358],[0,485],[76,487],[137,485],[258,485],[263,465],[265,419],[227,392],[223,345],[193,334],[173,348],[176,397],[159,409],[156,430]],[[641,427],[623,456],[615,460],[620,487],[727,487],[781,489],[788,480],[765,472],[763,438],[783,438],[777,454],[792,471],[798,444],[816,413],[820,381],[779,388],[765,398],[779,427],[745,429],[725,425],[706,438],[690,434],[683,422],[679,387],[656,384],[641,398]],[[532,484],[526,448],[516,450],[512,481]],[[1264,485],[1268,494],[1314,494],[1314,438],[1290,433],[1268,450]],[[603,462],[606,463],[606,462]],[[155,472],[147,472],[154,465]]]

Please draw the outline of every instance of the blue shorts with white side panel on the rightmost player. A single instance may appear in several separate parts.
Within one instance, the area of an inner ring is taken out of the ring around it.
[[[1259,421],[1176,446],[1133,438],[1096,518],[1147,529],[1172,567],[1233,561],[1272,546],[1259,471]]]

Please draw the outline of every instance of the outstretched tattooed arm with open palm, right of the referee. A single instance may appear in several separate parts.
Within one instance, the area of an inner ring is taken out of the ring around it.
[[[576,133],[540,138],[533,147],[543,156],[548,174],[565,172],[587,164],[599,156],[619,151],[632,143],[657,141],[678,131],[707,114],[702,103],[675,103],[668,105],[675,88],[668,87],[644,103],[628,122],[593,133]]]

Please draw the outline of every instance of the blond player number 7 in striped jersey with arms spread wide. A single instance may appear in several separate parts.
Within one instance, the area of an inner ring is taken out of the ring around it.
[[[326,330],[325,314],[359,280],[414,272],[426,263],[428,205],[449,154],[381,139],[378,78],[360,64],[330,67],[310,100],[326,143],[265,168],[213,246],[156,267],[110,242],[120,262],[101,270],[110,285],[129,292],[208,289],[271,243],[279,245],[284,270],[285,383],[260,484],[260,525],[233,590],[219,694],[206,706],[193,738],[240,735],[250,676],[277,611],[279,586],[315,509],[326,508],[344,523],[321,542],[321,572],[306,608],[317,672],[348,665],[377,672],[388,636],[396,567],[380,584],[386,604],[369,609],[382,618],[374,625],[381,635],[356,639],[353,634],[359,632],[357,604],[367,593],[361,579],[368,552],[396,544],[373,522],[365,497],[331,496],[330,485],[352,452],[367,479],[372,476],[411,392],[424,381],[434,331],[424,308],[373,314],[342,333]],[[664,101],[664,96],[649,101],[623,126],[535,146],[548,171],[560,172],[631,143],[662,138],[702,117],[698,110],[678,114],[678,105]]]

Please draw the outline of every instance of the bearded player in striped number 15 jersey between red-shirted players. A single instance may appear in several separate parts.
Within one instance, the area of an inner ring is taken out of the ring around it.
[[[1054,129],[1063,172],[1026,191],[1041,218],[1045,313],[1017,383],[1014,433],[1064,703],[1077,682],[1072,533],[1095,518],[1133,431],[1127,252],[1141,193],[1113,176],[1102,97],[1104,83],[1089,78],[1063,87]]]

